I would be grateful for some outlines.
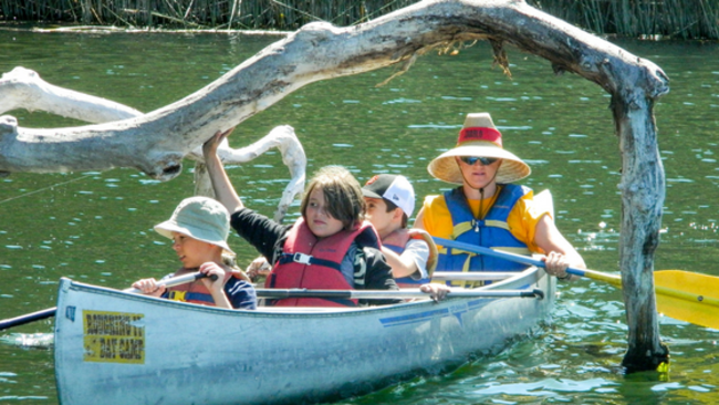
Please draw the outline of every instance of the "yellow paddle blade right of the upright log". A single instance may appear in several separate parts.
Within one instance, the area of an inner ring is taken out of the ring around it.
[[[674,319],[719,329],[719,278],[681,270],[654,272],[657,310]]]

